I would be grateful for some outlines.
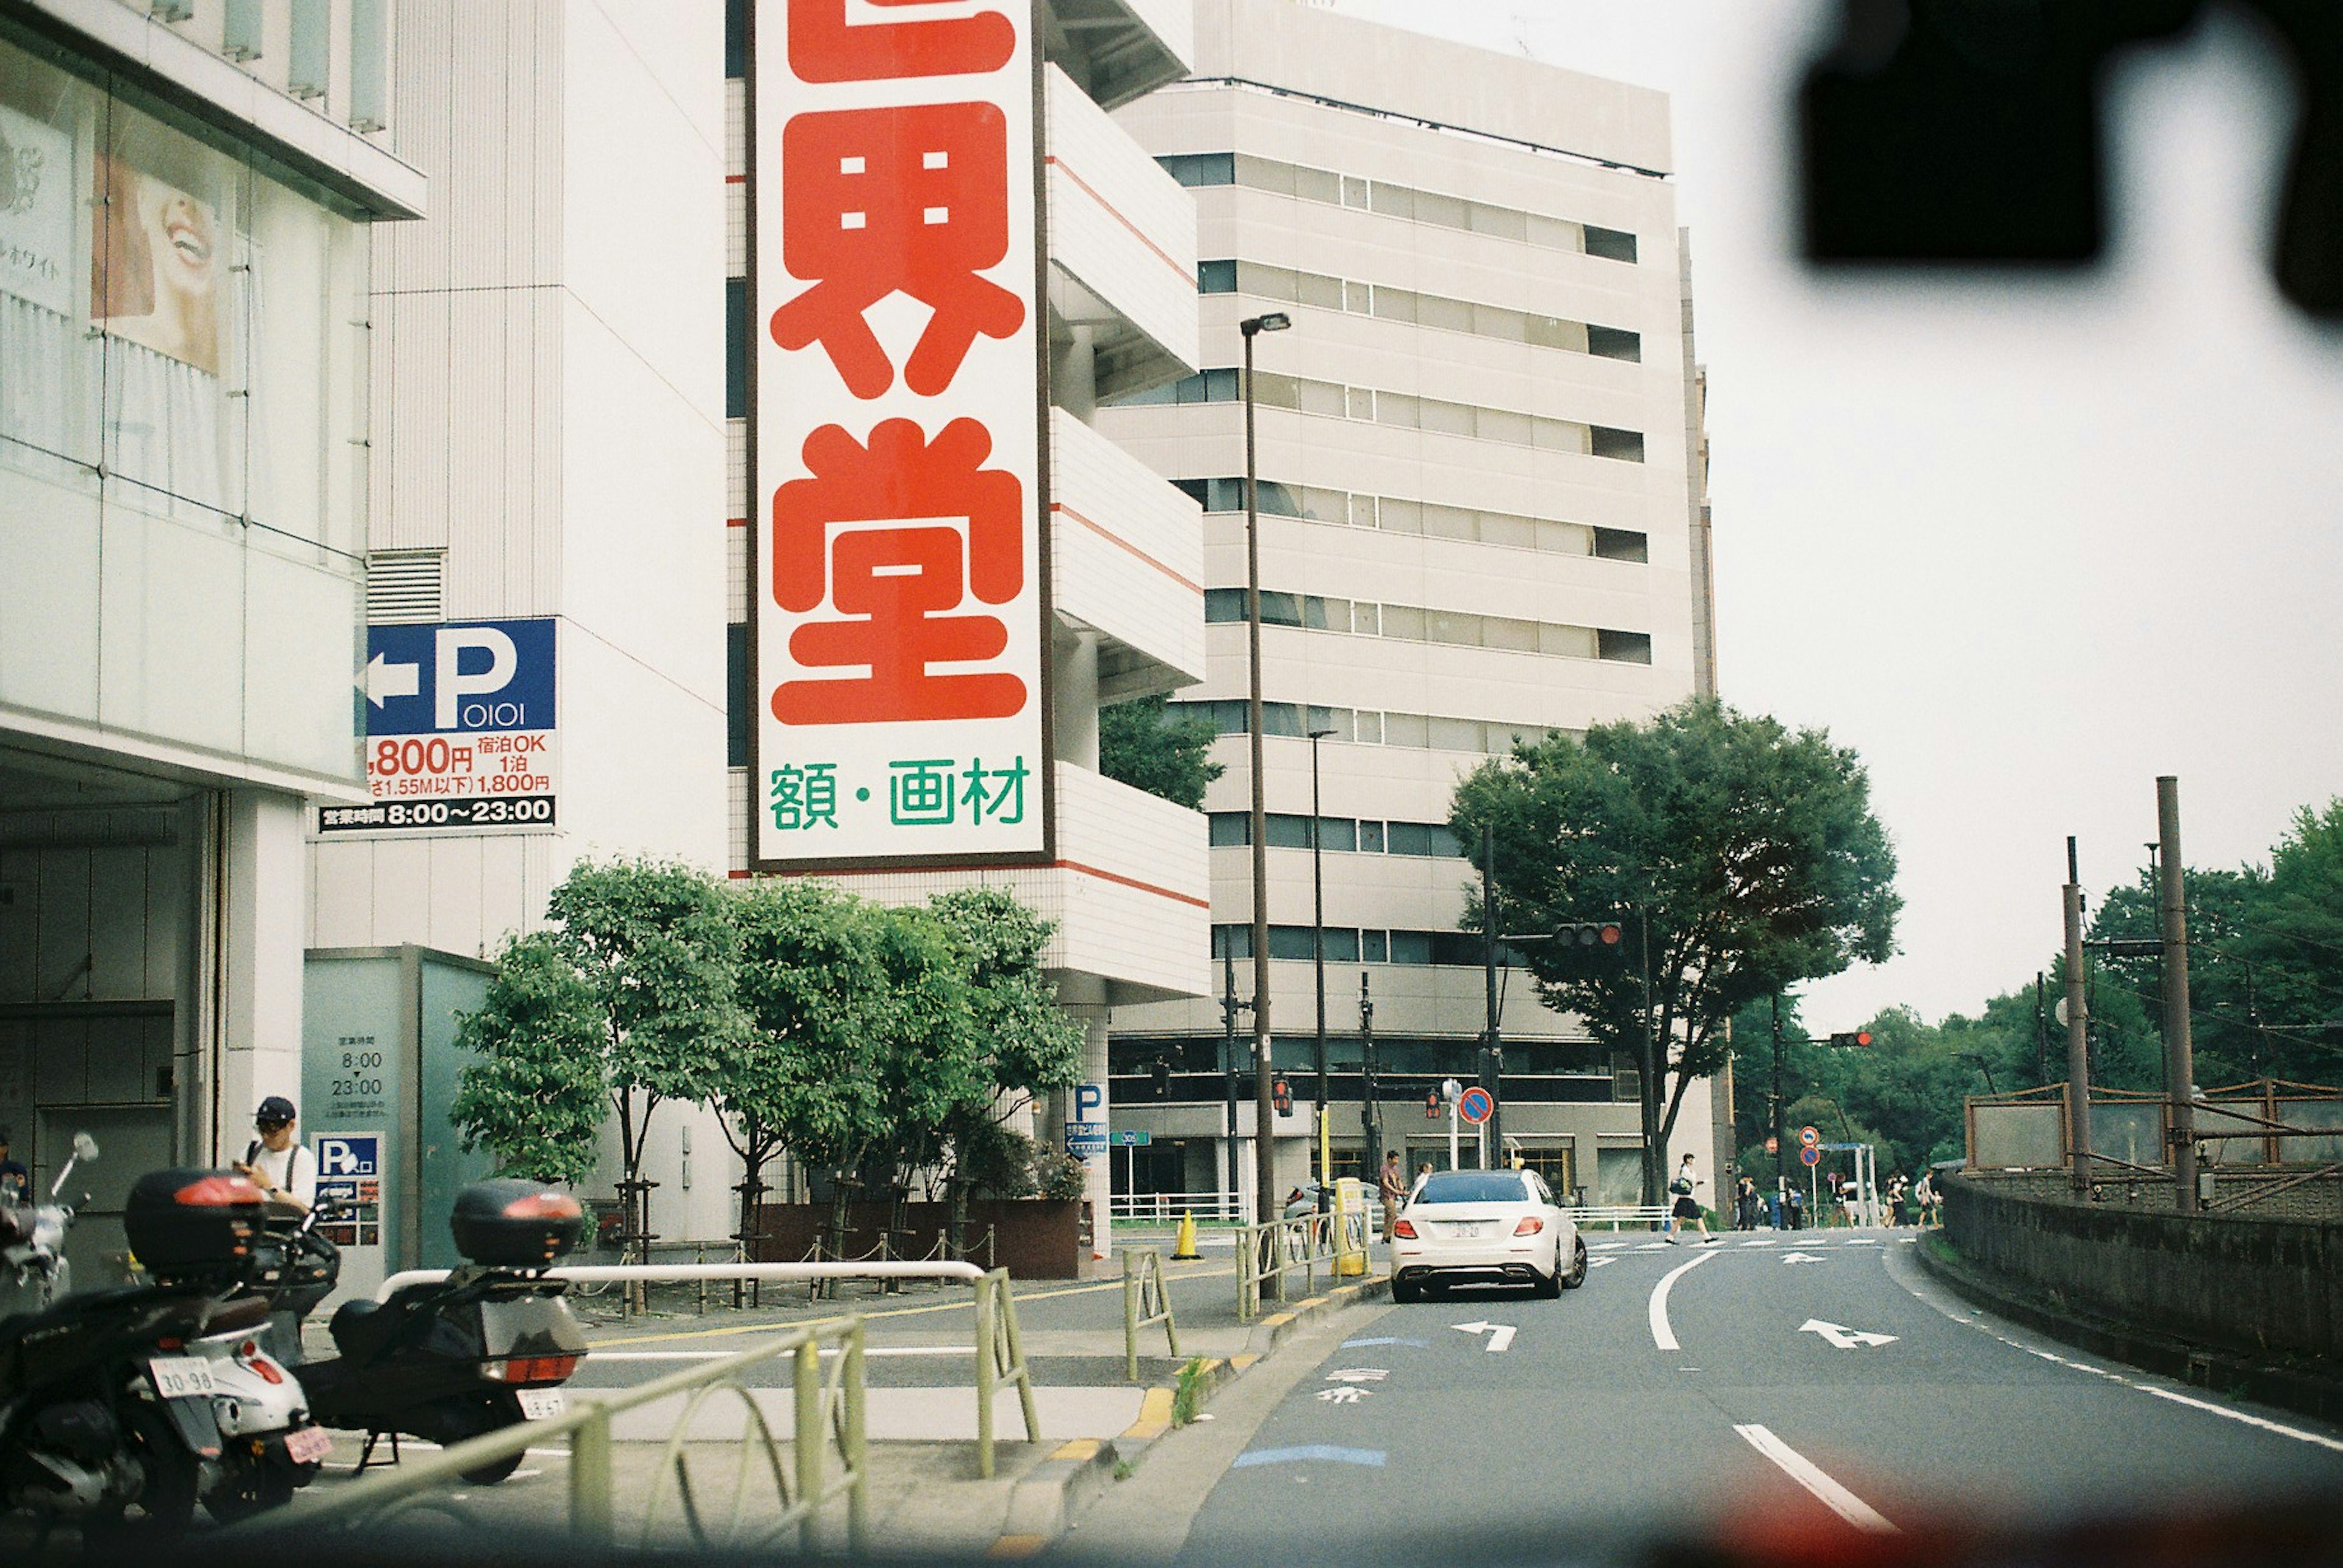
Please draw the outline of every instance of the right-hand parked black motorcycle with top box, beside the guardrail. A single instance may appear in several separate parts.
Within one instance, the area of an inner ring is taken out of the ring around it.
[[[476,1182],[457,1194],[450,1224],[469,1259],[462,1268],[403,1285],[387,1301],[344,1301],[328,1322],[337,1355],[295,1367],[321,1423],[366,1432],[361,1472],[382,1437],[396,1456],[398,1435],[448,1446],[558,1416],[562,1383],[586,1355],[567,1280],[544,1278],[586,1226],[576,1198],[537,1182]],[[478,1465],[464,1479],[492,1486],[520,1458]]]

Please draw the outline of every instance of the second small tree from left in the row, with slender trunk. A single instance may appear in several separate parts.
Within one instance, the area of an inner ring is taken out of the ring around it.
[[[602,1025],[602,1079],[635,1203],[651,1116],[668,1100],[712,1102],[740,1051],[740,934],[729,901],[691,866],[581,861],[546,906],[553,950],[586,985]],[[628,1229],[647,1229],[640,1208]]]

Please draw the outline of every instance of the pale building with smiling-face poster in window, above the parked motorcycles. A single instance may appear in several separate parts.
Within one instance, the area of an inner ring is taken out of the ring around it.
[[[363,803],[382,5],[0,5],[0,1126],[241,1158],[302,1070],[307,803]]]

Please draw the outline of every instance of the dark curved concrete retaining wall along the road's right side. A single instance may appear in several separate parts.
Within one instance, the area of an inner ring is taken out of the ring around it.
[[[1982,1271],[2207,1348],[2343,1360],[2343,1222],[2092,1205],[1985,1175],[1942,1191],[1945,1236]]]

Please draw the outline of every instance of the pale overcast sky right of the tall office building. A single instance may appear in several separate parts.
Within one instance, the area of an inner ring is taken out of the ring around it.
[[[1813,276],[1788,105],[1823,0],[1338,0],[1675,110],[1708,365],[1724,697],[1870,765],[1903,955],[1806,1020],[1973,1013],[2146,864],[2156,775],[2195,866],[2343,793],[2343,337],[2263,262],[2291,101],[2224,16],[2116,82],[2111,262],[1980,288]]]

